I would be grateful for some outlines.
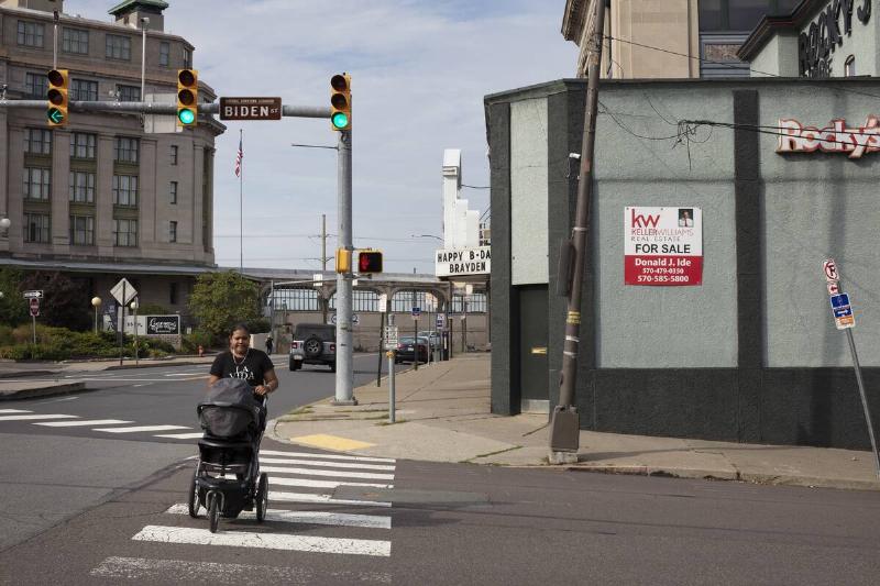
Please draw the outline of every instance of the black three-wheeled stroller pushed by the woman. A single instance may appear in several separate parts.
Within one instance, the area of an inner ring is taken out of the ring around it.
[[[260,441],[263,439],[266,398],[238,378],[215,383],[198,405],[201,429],[199,460],[189,487],[189,515],[208,510],[211,533],[220,516],[237,518],[242,509],[256,509],[263,522],[268,506],[268,475],[260,474]]]

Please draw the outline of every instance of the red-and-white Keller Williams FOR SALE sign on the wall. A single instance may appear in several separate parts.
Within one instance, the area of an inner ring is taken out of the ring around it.
[[[626,207],[624,234],[626,285],[702,285],[700,208]]]

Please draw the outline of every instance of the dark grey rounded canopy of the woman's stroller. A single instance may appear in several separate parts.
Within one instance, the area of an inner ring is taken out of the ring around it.
[[[232,438],[260,424],[260,409],[246,380],[221,378],[208,389],[197,412],[201,429],[217,438]]]

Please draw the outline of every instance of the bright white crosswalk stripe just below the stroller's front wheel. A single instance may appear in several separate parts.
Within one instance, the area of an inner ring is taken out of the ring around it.
[[[153,541],[160,543],[226,545],[229,548],[373,555],[378,557],[388,557],[392,554],[392,542],[382,540],[317,538],[310,535],[256,533],[252,531],[221,531],[219,533],[211,533],[207,529],[152,524],[144,527],[131,539],[133,541]]]

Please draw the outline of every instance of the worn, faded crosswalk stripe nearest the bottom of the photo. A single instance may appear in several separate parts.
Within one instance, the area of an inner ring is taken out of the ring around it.
[[[91,571],[92,576],[122,582],[151,584],[392,584],[385,572],[312,571],[305,567],[189,562],[186,560],[147,560],[108,557]]]

